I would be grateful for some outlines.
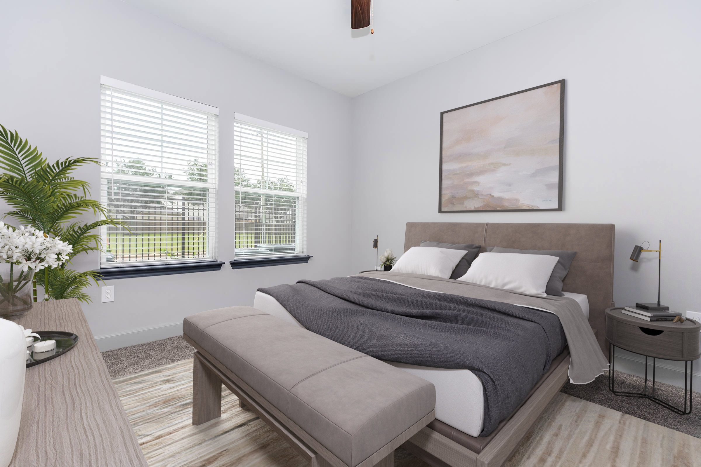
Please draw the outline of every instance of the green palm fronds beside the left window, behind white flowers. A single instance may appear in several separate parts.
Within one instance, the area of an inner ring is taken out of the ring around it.
[[[100,280],[95,271],[78,272],[67,268],[81,253],[102,251],[99,233],[102,225],[123,225],[109,215],[100,202],[88,198],[90,184],[76,180],[71,174],[86,164],[100,164],[96,158],[65,158],[49,164],[46,158],[20,138],[0,125],[0,199],[10,205],[5,218],[13,218],[43,232],[49,239],[60,239],[72,249],[62,252],[64,261],[53,267],[43,267],[35,274],[36,286],[43,288],[44,300],[77,298],[90,301],[85,288]],[[93,214],[102,218],[81,222],[76,218]]]

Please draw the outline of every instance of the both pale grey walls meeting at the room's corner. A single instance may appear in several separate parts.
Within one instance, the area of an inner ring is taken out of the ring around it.
[[[233,113],[310,134],[311,262],[108,281],[116,301],[107,304],[93,287],[83,309],[103,348],[174,335],[187,314],[251,304],[261,286],[370,269],[371,239],[399,253],[407,221],[615,223],[618,304],[654,300],[653,256],[627,258],[632,245],[662,239],[664,302],[701,311],[700,16],[696,1],[599,1],[351,101],[121,1],[15,2],[0,29],[0,123],[55,160],[99,155],[100,75],[218,106],[224,261],[233,258]],[[561,78],[564,211],[438,214],[440,112]],[[77,176],[97,196],[98,167]],[[97,262],[82,256],[75,268]]]

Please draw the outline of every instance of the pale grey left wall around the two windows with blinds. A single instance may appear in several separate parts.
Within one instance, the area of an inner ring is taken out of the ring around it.
[[[3,6],[0,123],[49,160],[100,155],[100,75],[219,107],[219,260],[233,259],[233,114],[296,128],[308,139],[308,264],[107,281],[116,300],[83,305],[101,347],[175,335],[184,316],[252,305],[258,287],[348,274],[351,100],[234,53],[117,0]],[[100,169],[77,173],[99,197]],[[3,209],[6,211],[6,209]],[[77,270],[96,269],[97,255]],[[175,324],[175,326],[167,326]],[[163,327],[165,326],[165,328]],[[158,328],[144,333],[135,330]]]

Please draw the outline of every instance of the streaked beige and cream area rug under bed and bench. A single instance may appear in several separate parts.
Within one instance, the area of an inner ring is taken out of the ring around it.
[[[306,467],[224,389],[222,418],[191,424],[192,360],[113,380],[151,467]],[[411,455],[395,467],[426,467]],[[508,467],[701,467],[701,439],[559,393]]]

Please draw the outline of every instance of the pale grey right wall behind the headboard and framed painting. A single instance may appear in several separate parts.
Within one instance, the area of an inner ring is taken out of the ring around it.
[[[353,268],[407,221],[615,223],[617,305],[701,311],[701,3],[599,1],[353,102]],[[566,79],[564,211],[438,214],[440,112]],[[697,365],[698,366],[698,365]],[[642,368],[642,367],[641,367]],[[697,368],[698,369],[698,368]]]

